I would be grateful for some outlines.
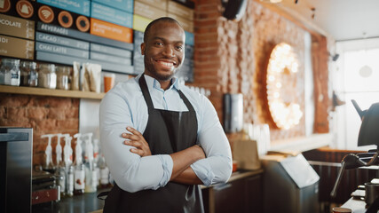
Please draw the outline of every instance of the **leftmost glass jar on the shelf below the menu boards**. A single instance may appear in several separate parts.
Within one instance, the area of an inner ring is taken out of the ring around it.
[[[1,60],[0,84],[20,86],[20,59]]]

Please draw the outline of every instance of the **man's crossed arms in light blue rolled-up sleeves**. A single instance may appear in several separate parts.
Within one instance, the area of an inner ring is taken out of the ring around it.
[[[197,141],[201,147],[191,146],[170,155],[151,155],[140,133],[145,130],[148,118],[145,100],[133,97],[137,91],[120,89],[101,101],[99,123],[102,153],[115,183],[122,190],[131,193],[155,190],[170,181],[211,185],[229,179],[232,173],[230,145],[208,99],[193,102],[199,112]],[[128,126],[133,129],[126,133]],[[129,135],[122,137],[123,133]],[[125,144],[125,140],[130,140],[130,144]]]

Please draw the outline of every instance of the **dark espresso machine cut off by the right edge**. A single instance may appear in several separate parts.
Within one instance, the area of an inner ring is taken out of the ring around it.
[[[379,146],[379,103],[371,105],[367,110],[361,110],[355,100],[351,100],[357,110],[362,123],[359,129],[358,146],[376,145]],[[343,177],[344,170],[353,170],[359,167],[379,165],[379,152],[377,149],[368,150],[367,153],[347,154],[341,162],[341,169],[338,171],[336,183],[330,193],[331,197],[336,197],[336,190]],[[367,207],[367,213],[379,210],[379,197]]]

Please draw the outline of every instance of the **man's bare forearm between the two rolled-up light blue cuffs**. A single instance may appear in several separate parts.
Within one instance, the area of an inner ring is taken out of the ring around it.
[[[185,172],[193,162],[197,162],[205,158],[205,154],[201,146],[197,145],[186,148],[178,153],[170,154],[170,156],[173,162],[170,181],[179,177],[179,175]],[[187,172],[183,174],[184,177],[188,175]]]

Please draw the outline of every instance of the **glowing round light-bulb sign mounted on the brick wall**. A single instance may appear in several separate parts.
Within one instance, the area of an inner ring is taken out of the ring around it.
[[[288,130],[300,122],[303,112],[296,99],[296,74],[299,63],[288,43],[277,44],[267,66],[267,100],[272,120]]]

